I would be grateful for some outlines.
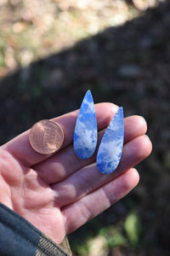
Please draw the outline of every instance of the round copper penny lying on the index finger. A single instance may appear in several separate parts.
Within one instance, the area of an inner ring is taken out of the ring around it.
[[[37,153],[52,154],[61,147],[64,132],[54,121],[44,119],[31,127],[29,141]]]

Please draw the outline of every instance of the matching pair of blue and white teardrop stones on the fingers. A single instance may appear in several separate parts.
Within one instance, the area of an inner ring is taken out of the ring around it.
[[[97,166],[100,172],[109,174],[118,166],[123,146],[124,123],[123,110],[119,108],[114,115],[99,145]],[[74,132],[74,150],[81,159],[88,159],[94,154],[98,139],[97,120],[94,100],[88,90],[77,117]]]

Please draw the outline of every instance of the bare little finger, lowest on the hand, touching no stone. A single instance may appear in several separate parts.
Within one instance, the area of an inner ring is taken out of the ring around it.
[[[82,224],[111,207],[116,201],[127,195],[138,183],[138,172],[135,169],[130,169],[110,183],[105,184],[104,187],[64,207],[62,213],[65,219],[65,233],[69,234],[77,230]]]

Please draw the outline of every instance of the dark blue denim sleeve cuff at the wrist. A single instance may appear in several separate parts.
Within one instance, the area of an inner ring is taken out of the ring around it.
[[[63,246],[48,239],[25,218],[0,203],[0,255],[71,256],[68,241]]]

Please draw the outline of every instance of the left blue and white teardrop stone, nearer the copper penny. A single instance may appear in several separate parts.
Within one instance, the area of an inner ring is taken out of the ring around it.
[[[81,159],[88,159],[94,154],[97,144],[97,120],[94,109],[94,100],[88,90],[83,98],[77,117],[74,132],[74,150]]]

